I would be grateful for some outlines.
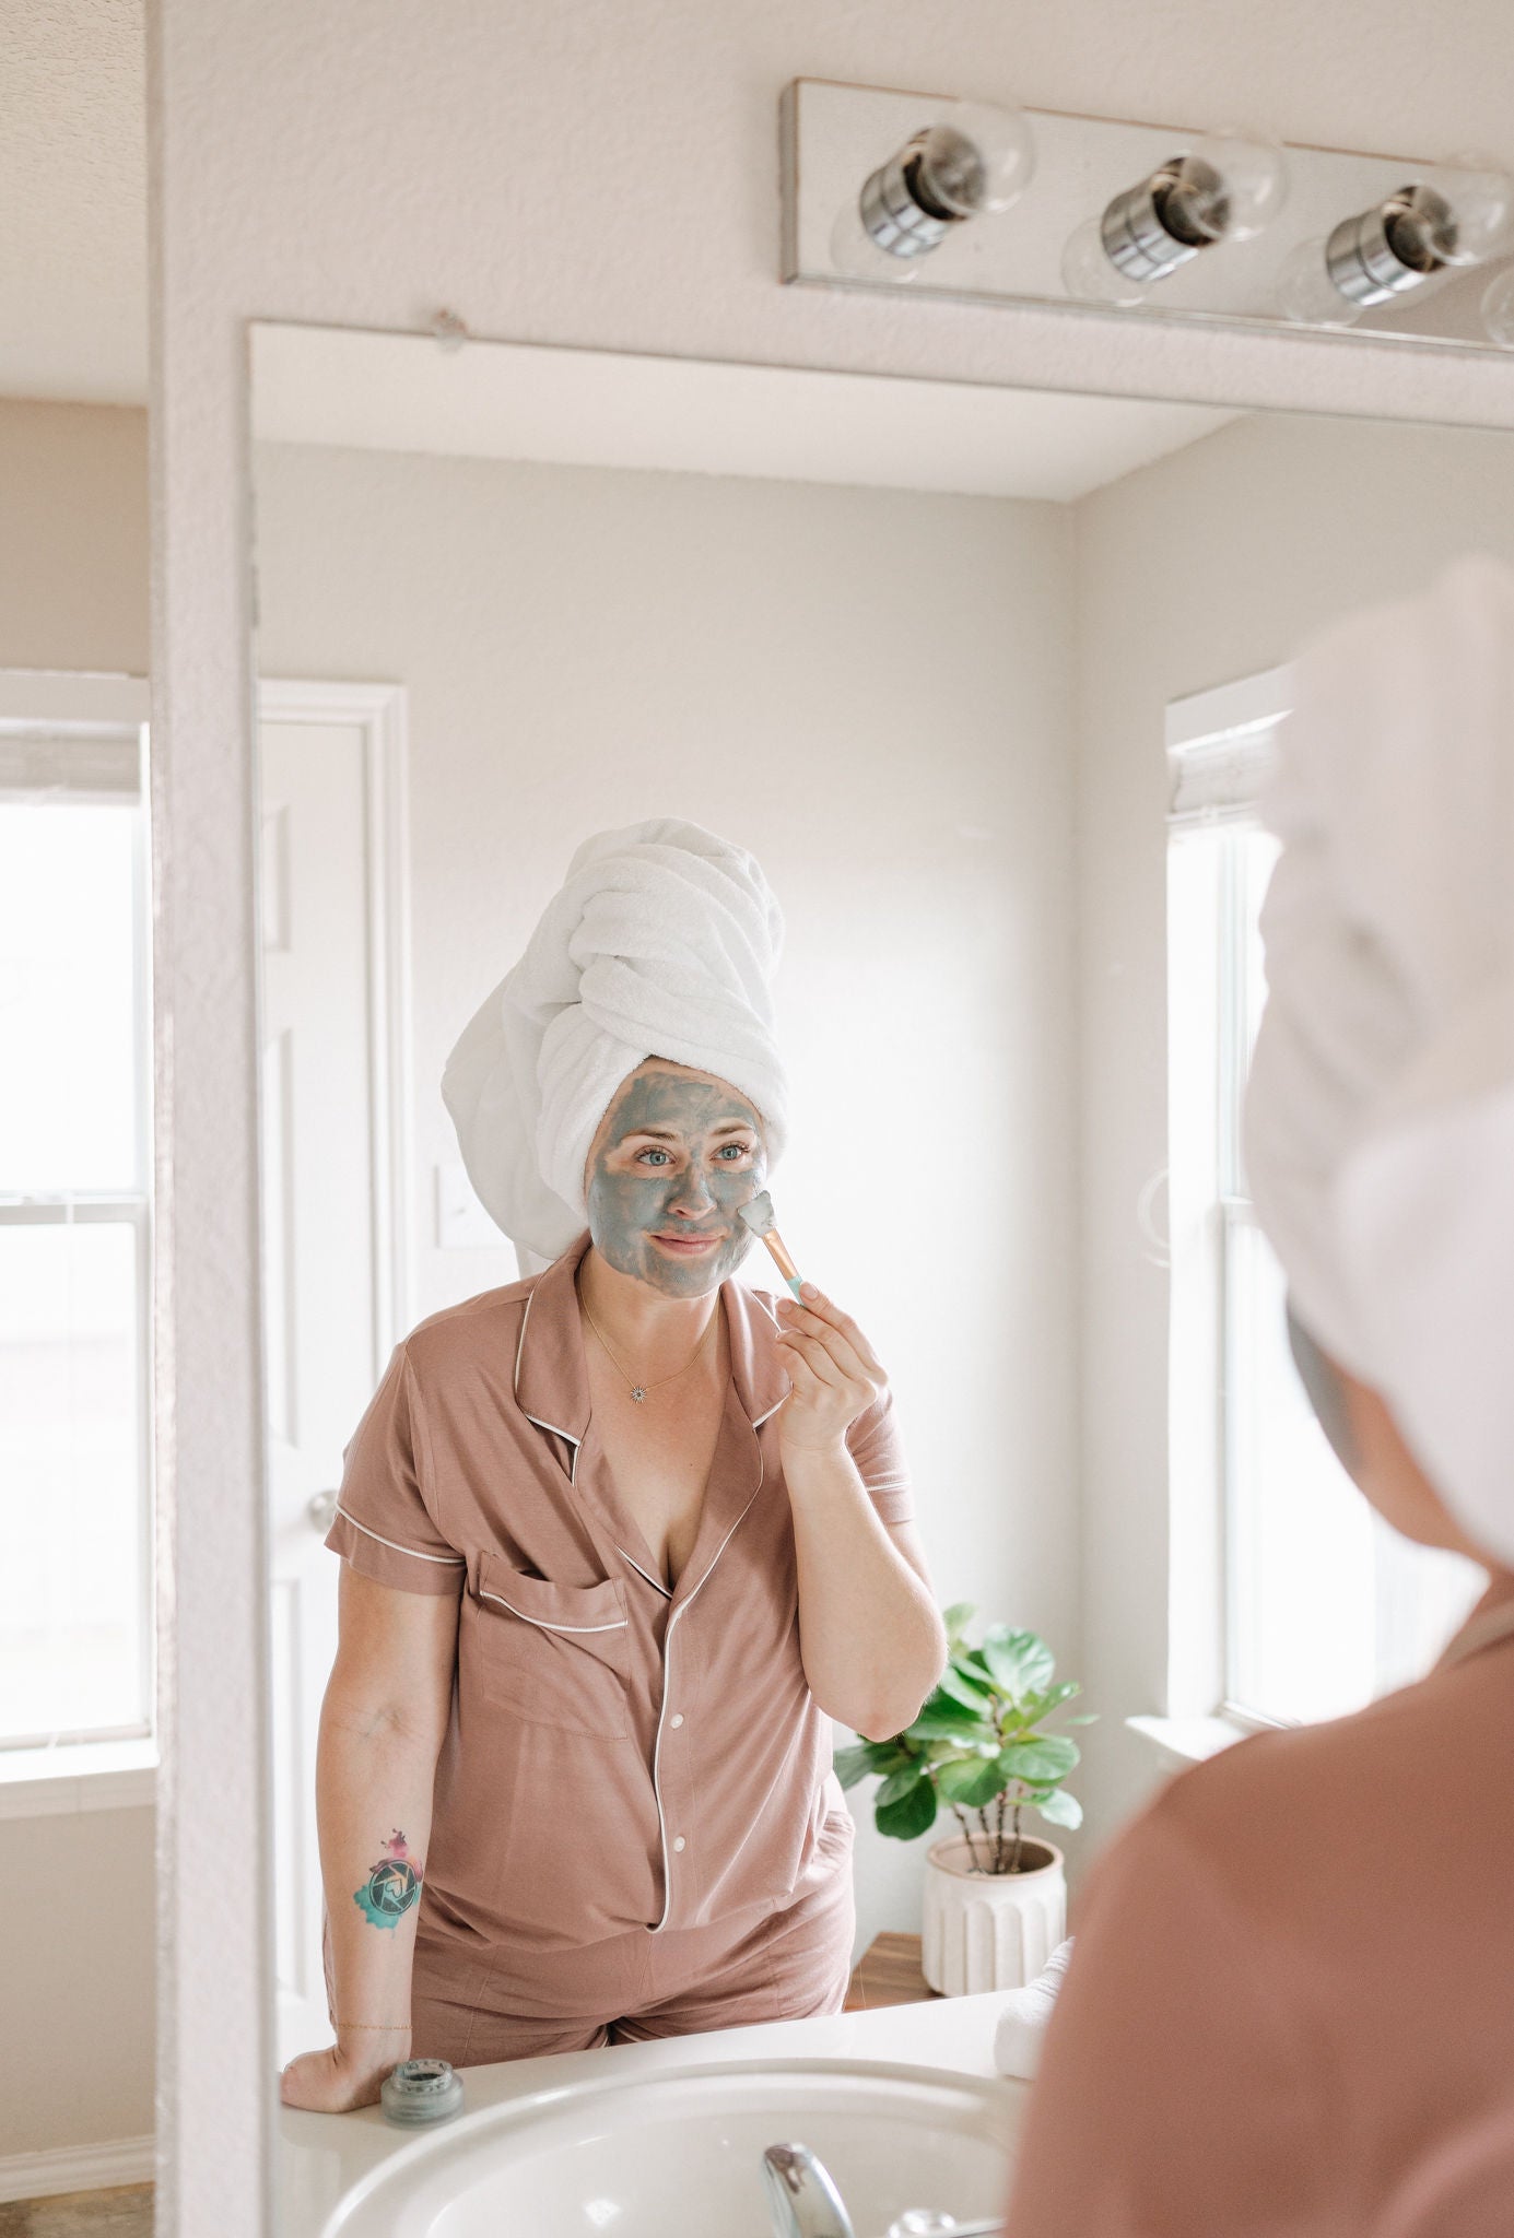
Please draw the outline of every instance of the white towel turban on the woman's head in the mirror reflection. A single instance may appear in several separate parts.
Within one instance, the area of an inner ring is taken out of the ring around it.
[[[647,1056],[739,1088],[777,1162],[788,1085],[770,980],[782,942],[757,862],[697,824],[585,839],[441,1079],[468,1177],[515,1244],[551,1260],[582,1233],[589,1146]]]

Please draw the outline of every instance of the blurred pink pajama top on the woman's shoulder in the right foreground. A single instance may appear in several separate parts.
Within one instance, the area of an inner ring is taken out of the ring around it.
[[[1185,1772],[1093,1875],[1010,2238],[1510,2238],[1514,1576],[1420,1685]]]

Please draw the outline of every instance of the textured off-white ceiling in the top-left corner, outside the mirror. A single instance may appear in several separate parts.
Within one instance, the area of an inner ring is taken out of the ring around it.
[[[0,396],[143,403],[141,0],[0,7]]]

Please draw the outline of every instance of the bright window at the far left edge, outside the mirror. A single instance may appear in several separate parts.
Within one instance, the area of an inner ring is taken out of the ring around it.
[[[152,1728],[143,736],[0,716],[4,1750]]]

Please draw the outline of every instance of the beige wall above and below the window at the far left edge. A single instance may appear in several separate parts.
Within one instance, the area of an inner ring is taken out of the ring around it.
[[[0,401],[0,667],[148,667],[146,412]],[[152,2128],[152,1811],[4,1824],[0,2155]]]

